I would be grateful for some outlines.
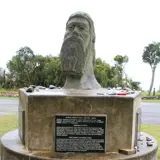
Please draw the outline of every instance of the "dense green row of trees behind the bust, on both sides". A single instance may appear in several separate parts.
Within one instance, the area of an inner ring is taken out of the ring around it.
[[[96,59],[95,76],[102,87],[129,87],[139,90],[139,82],[128,78],[125,64],[128,56],[117,55],[111,66],[101,58]],[[31,84],[62,87],[65,81],[59,56],[34,54],[27,46],[20,48],[7,63],[7,72],[0,69],[0,85],[3,88],[27,87]]]

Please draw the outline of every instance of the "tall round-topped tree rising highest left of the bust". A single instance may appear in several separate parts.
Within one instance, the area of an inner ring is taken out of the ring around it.
[[[20,86],[30,85],[33,82],[33,73],[35,69],[35,55],[29,47],[22,47],[16,52],[7,63],[7,68],[16,82]]]

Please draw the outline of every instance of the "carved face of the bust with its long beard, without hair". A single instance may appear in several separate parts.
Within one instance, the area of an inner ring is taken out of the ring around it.
[[[90,26],[86,19],[78,17],[68,21],[60,54],[62,68],[67,75],[82,76],[90,37]]]

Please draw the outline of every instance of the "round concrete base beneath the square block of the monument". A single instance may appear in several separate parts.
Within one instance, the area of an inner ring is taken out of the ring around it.
[[[153,141],[147,146],[146,137]],[[157,160],[157,141],[146,133],[141,134],[136,154],[124,155],[116,152],[106,153],[51,153],[47,151],[30,152],[24,148],[18,130],[6,133],[1,139],[1,160]]]

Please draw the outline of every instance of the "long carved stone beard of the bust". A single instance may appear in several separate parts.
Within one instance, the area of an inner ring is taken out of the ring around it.
[[[66,38],[61,48],[62,69],[65,75],[81,77],[84,72],[85,52],[83,41],[76,36]]]

